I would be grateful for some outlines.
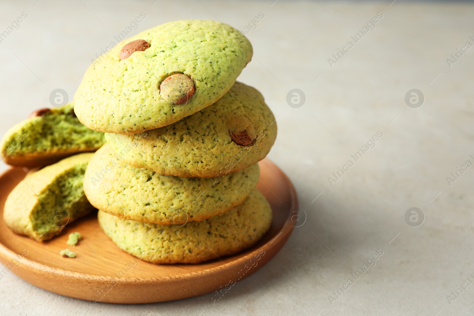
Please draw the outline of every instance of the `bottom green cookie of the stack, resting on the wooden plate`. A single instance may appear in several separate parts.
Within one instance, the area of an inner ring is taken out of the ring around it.
[[[118,247],[153,263],[199,263],[255,244],[272,224],[272,209],[255,189],[224,214],[183,226],[120,219],[99,211],[100,227]]]

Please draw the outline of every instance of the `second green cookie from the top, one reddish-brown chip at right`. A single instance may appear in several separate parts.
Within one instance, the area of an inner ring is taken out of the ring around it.
[[[236,82],[216,103],[179,122],[105,137],[134,167],[179,177],[220,177],[264,159],[276,138],[276,122],[260,92]]]

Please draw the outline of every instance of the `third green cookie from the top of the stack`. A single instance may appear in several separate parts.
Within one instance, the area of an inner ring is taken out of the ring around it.
[[[259,175],[258,164],[221,178],[161,175],[126,164],[105,144],[87,166],[84,191],[94,207],[120,218],[177,225],[222,214],[242,203]]]

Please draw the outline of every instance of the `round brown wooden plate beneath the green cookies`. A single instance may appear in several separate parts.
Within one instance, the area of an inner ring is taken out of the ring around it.
[[[0,176],[0,262],[7,270],[39,288],[90,301],[153,303],[190,298],[220,289],[222,294],[269,262],[292,233],[298,210],[290,180],[268,159],[260,162],[257,188],[270,202],[270,231],[247,251],[200,264],[153,264],[118,249],[103,233],[96,213],[66,226],[49,242],[35,242],[15,235],[3,222],[3,206],[26,171],[11,168]],[[83,241],[66,244],[69,233],[78,231]],[[70,248],[77,258],[63,258]],[[26,254],[22,256],[23,254]],[[8,271],[0,270],[0,277]],[[221,295],[222,295],[221,294]],[[210,294],[219,299],[216,292]]]

